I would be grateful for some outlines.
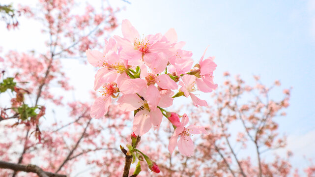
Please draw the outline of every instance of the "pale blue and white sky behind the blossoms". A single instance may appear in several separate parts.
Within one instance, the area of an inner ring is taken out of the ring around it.
[[[12,0],[2,3],[5,2]],[[129,2],[109,0],[113,7],[124,7],[117,14],[118,22],[128,19],[144,35],[174,28],[178,40],[186,42],[184,49],[193,52],[196,62],[210,45],[206,56],[215,56],[218,66],[214,81],[219,85],[223,83],[223,72],[229,71],[232,75],[240,74],[248,83],[254,83],[255,74],[266,85],[278,79],[282,89],[292,87],[287,116],[278,120],[279,129],[288,136],[288,148],[294,153],[293,166],[307,164],[303,155],[315,157],[315,0]],[[21,21],[19,31],[0,28],[3,51],[38,46],[42,38],[39,31],[29,28],[36,25],[32,23]],[[113,34],[121,35],[120,28]],[[76,95],[91,89],[86,86],[92,86],[90,78],[95,70],[71,60],[64,64],[72,84],[81,88],[72,95],[78,99]],[[278,96],[277,92],[274,96]]]

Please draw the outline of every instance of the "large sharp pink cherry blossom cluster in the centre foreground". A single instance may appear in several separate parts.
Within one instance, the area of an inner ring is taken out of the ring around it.
[[[186,114],[179,116],[165,108],[179,96],[190,97],[195,106],[207,106],[196,91],[211,92],[216,68],[212,57],[193,66],[192,52],[183,50],[185,42],[177,41],[174,29],[161,33],[140,35],[128,20],[122,21],[122,35],[105,40],[103,52],[86,50],[88,62],[100,69],[95,74],[94,89],[101,92],[91,108],[92,118],[102,118],[117,98],[118,109],[134,111],[133,132],[143,136],[152,127],[159,128],[163,116],[175,129],[170,140],[172,153],[193,154],[191,134],[206,133],[204,127],[190,125]],[[176,92],[176,93],[175,93]],[[181,118],[181,121],[180,121]],[[177,142],[178,137],[180,137]]]

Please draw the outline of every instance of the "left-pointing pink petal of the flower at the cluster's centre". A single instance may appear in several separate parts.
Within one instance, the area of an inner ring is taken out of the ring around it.
[[[137,93],[140,92],[143,87],[146,87],[146,81],[140,78],[137,79],[127,79],[125,80],[119,90],[124,94]]]

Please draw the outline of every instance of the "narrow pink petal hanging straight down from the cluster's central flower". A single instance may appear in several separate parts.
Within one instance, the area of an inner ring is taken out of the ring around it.
[[[147,101],[147,104],[149,105],[149,108],[151,111],[154,111],[161,99],[160,91],[151,84],[145,93],[145,100]]]

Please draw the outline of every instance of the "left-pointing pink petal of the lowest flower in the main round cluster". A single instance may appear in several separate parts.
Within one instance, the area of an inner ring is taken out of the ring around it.
[[[137,94],[124,94],[117,103],[121,111],[134,111],[143,106],[144,101]]]

